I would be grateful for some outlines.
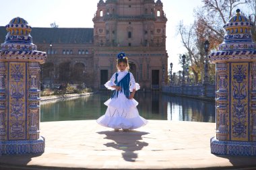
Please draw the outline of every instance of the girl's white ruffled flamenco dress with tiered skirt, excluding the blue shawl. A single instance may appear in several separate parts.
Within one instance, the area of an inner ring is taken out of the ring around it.
[[[106,88],[115,90],[111,86],[116,85],[116,74],[117,73],[111,77],[110,81],[106,82]],[[130,74],[130,91],[133,91],[133,89],[137,91],[140,87],[138,83],[135,83],[132,73],[119,71],[117,81],[121,81],[127,74]],[[96,122],[102,126],[115,129],[135,129],[148,123],[146,119],[139,116],[139,112],[136,108],[138,102],[135,99],[127,99],[125,94],[120,91],[118,97],[110,98],[104,104],[108,106],[106,113],[96,120]]]

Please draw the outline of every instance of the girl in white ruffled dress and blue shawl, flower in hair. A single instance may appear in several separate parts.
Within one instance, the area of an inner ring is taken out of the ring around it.
[[[138,102],[133,99],[135,91],[139,89],[139,84],[135,83],[132,73],[129,73],[128,58],[124,52],[117,55],[117,69],[105,87],[115,90],[110,99],[104,104],[108,106],[106,113],[98,118],[98,124],[109,128],[114,128],[115,132],[123,129],[139,128],[148,123],[147,120],[139,116],[136,108]],[[131,91],[131,93],[130,93]]]

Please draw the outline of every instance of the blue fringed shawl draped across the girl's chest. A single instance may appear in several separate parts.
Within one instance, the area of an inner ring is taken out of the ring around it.
[[[123,79],[117,82],[118,73],[116,73],[115,84],[121,87],[121,91],[115,90],[111,99],[118,97],[119,93],[124,93],[125,97],[129,99],[130,97],[130,73],[128,72]]]

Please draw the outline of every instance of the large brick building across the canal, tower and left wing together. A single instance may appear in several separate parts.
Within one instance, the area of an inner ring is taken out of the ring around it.
[[[166,21],[160,0],[100,0],[94,28],[34,28],[34,43],[49,56],[42,81],[98,89],[117,71],[116,55],[123,51],[141,88],[158,88],[167,77]]]

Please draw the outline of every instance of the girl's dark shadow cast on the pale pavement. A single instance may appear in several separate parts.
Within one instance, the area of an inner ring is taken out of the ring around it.
[[[125,161],[135,161],[138,157],[135,151],[139,151],[144,146],[148,146],[147,142],[141,141],[143,140],[142,136],[148,134],[148,132],[138,132],[135,130],[129,132],[103,131],[98,132],[98,134],[104,134],[106,135],[104,138],[112,140],[104,145],[122,150],[122,156]]]

